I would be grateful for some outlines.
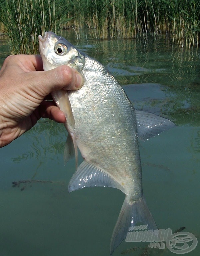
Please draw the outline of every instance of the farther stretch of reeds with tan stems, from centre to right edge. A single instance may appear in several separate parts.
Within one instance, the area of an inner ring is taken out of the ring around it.
[[[199,0],[66,0],[66,6],[68,17],[74,17],[70,24],[93,28],[96,38],[165,33],[172,46],[199,45]]]

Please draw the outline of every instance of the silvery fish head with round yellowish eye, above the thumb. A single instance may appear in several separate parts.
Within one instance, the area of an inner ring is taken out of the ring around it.
[[[44,37],[39,35],[39,50],[42,56],[43,69],[50,70],[60,65],[68,65],[78,70],[83,69],[85,57],[70,42],[49,31]]]

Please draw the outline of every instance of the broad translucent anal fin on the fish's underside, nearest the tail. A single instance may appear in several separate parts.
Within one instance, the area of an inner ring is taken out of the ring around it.
[[[81,163],[78,170],[72,176],[68,192],[85,187],[112,187],[124,192],[124,188],[107,172],[97,167],[95,164],[87,162]],[[124,192],[125,193],[125,192]]]

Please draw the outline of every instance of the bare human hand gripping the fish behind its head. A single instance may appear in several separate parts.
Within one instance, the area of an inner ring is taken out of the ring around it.
[[[50,96],[53,90],[77,90],[82,76],[68,66],[43,71],[40,55],[13,55],[0,70],[0,147],[33,127],[42,118],[66,121]]]

